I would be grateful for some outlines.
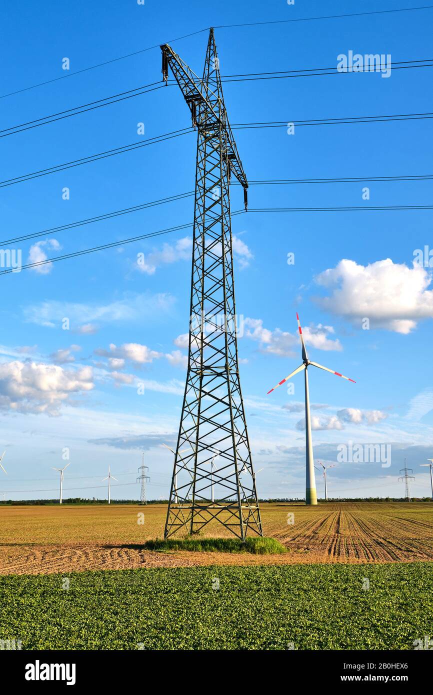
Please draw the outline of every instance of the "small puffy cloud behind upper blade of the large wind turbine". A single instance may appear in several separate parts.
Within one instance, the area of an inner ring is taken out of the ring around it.
[[[245,318],[245,335],[260,344],[261,352],[271,352],[280,357],[295,357],[300,354],[300,341],[297,333],[288,333],[277,328],[274,331],[263,327],[261,318]],[[318,350],[342,350],[338,338],[329,338],[334,334],[332,326],[324,326],[319,323],[316,326],[302,328],[305,343],[308,347],[317,347]]]

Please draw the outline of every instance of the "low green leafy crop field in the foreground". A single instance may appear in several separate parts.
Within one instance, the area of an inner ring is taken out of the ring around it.
[[[432,564],[305,564],[0,577],[22,649],[413,649]]]

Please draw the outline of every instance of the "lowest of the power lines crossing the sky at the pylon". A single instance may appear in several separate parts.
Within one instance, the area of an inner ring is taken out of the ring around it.
[[[391,205],[391,206],[348,206],[348,207],[327,207],[327,208],[252,208],[249,212],[252,213],[277,213],[277,212],[351,212],[351,211],[401,211],[401,210],[432,210],[433,205]],[[237,210],[231,213],[231,216],[240,215],[245,213],[244,210]],[[108,244],[103,244],[100,246],[95,246],[90,249],[83,249],[81,251],[75,251],[70,254],[63,254],[62,256],[56,256],[51,259],[45,259],[44,261],[37,261],[35,263],[26,263],[22,265],[19,270],[27,270],[28,268],[36,268],[40,265],[45,265],[46,263],[56,263],[56,261],[64,261],[65,259],[76,258],[76,256],[83,256],[85,254],[95,253],[104,249],[113,248],[116,246],[122,246],[123,244],[130,244],[134,241],[140,241],[142,239],[152,238],[154,236],[161,236],[163,234],[170,234],[172,231],[179,231],[180,229],[188,229],[188,227],[193,227],[193,222],[188,222],[187,224],[179,224],[177,227],[171,227],[170,229],[161,229],[160,231],[154,231],[150,234],[142,234],[140,236],[135,236],[128,239],[121,239],[120,241],[113,241]],[[10,272],[17,272],[14,268],[6,268],[6,270],[1,270],[0,275],[6,275]]]

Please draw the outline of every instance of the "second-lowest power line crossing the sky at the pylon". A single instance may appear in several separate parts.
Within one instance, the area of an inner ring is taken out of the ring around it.
[[[305,183],[359,183],[363,181],[431,181],[433,179],[433,174],[423,174],[408,175],[408,176],[395,176],[395,177],[345,177],[341,179],[328,178],[328,179],[264,179],[257,181],[249,181],[249,186],[281,186],[281,185],[296,185]],[[240,183],[234,182],[233,186],[240,186]],[[161,198],[148,203],[142,203],[139,205],[131,206],[129,208],[122,208],[121,210],[115,210],[109,213],[103,213],[101,215],[95,215],[92,218],[86,218],[85,220],[78,220],[76,222],[70,222],[69,224],[60,224],[58,227],[50,227],[49,229],[42,229],[42,231],[36,231],[32,234],[25,234],[24,236],[16,236],[10,239],[3,239],[0,241],[0,247],[6,246],[8,244],[17,243],[20,241],[27,241],[29,239],[40,238],[41,236],[47,236],[48,234],[58,234],[59,231],[67,231],[67,229],[75,229],[76,227],[83,227],[85,224],[92,224],[92,222],[102,222],[104,220],[111,220],[111,218],[118,217],[120,215],[126,215],[133,212],[138,212],[140,210],[145,210],[147,208],[152,208],[154,206],[163,205],[170,202],[175,202],[177,200],[183,200],[188,197],[192,197],[194,191],[188,191],[186,193],[179,193],[177,195],[172,195],[166,198]]]

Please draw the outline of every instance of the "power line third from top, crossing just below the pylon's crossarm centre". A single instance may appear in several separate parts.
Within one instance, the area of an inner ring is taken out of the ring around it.
[[[317,120],[298,120],[290,121],[294,126],[309,126],[309,125],[344,125],[353,123],[375,123],[375,122],[395,122],[400,120],[424,120],[432,119],[433,112],[426,113],[399,113],[384,116],[350,116],[342,118],[322,118]],[[282,128],[287,127],[288,123],[286,121],[268,121],[268,122],[254,122],[254,123],[236,123],[232,126],[233,129],[263,129],[263,128]],[[133,149],[138,149],[140,147],[147,147],[147,145],[155,145],[158,142],[164,142],[165,140],[171,140],[172,138],[177,138],[181,135],[186,135],[187,133],[192,133],[193,128],[183,128],[180,131],[172,131],[170,133],[164,133],[160,136],[154,136],[154,138],[149,138],[143,142],[132,142],[130,145],[122,145],[121,147],[115,147],[114,149],[106,150],[106,152],[99,152],[97,154],[90,154],[80,159],[76,159],[72,162],[66,162],[64,164],[54,165],[52,167],[47,167],[47,169],[42,169],[36,172],[30,172],[28,174],[22,174],[22,176],[14,177],[13,179],[5,179],[0,181],[0,188],[5,188],[6,186],[13,186],[15,183],[22,183],[23,181],[30,181],[31,179],[38,179],[42,176],[47,176],[48,174],[54,174],[56,172],[64,171],[65,169],[71,169],[73,167],[78,167],[83,164],[88,164],[90,162],[98,161],[99,159],[105,159],[116,154],[123,154],[124,152],[130,152]]]

